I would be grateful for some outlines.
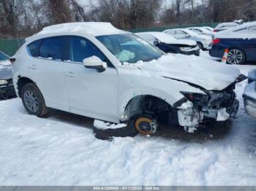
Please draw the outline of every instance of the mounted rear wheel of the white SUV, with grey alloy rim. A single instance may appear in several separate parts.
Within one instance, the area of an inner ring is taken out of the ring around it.
[[[29,114],[36,115],[37,117],[43,117],[45,114],[48,114],[45,99],[34,83],[29,83],[22,87],[21,98],[23,106]]]

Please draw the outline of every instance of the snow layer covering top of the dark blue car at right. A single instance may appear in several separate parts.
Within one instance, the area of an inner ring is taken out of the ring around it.
[[[252,28],[252,30],[244,30],[246,28]],[[256,38],[256,21],[244,23],[236,27],[221,31],[215,35],[215,38],[227,38],[227,39],[255,39]]]

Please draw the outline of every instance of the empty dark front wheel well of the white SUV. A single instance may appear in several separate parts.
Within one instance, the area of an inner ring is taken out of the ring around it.
[[[159,114],[170,112],[171,108],[172,106],[162,98],[154,95],[137,95],[128,102],[124,116],[127,120],[143,115],[157,118]]]

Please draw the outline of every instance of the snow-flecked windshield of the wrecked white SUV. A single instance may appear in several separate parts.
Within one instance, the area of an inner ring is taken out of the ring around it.
[[[122,63],[152,61],[164,55],[164,52],[133,34],[114,34],[96,38]]]

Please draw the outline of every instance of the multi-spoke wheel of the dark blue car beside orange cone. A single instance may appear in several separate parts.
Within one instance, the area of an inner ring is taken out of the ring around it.
[[[240,48],[232,48],[227,53],[228,64],[243,64],[246,59],[244,50]]]

